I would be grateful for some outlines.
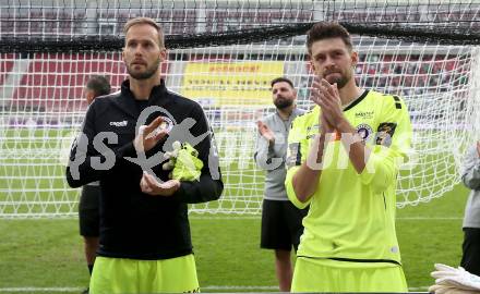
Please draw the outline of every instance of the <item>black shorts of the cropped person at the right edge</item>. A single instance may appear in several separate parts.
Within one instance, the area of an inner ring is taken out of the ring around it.
[[[465,238],[460,266],[467,271],[480,275],[480,229],[464,228]]]

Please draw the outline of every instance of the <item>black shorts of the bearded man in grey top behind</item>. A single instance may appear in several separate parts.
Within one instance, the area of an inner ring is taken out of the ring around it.
[[[260,247],[297,250],[303,234],[302,219],[309,209],[298,209],[290,201],[263,200]]]

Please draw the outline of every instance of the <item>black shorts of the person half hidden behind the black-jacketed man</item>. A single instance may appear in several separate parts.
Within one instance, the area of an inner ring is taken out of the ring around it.
[[[100,186],[82,187],[79,204],[80,234],[98,237],[100,234]]]

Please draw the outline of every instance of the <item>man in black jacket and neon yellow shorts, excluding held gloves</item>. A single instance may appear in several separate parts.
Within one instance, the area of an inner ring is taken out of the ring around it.
[[[99,181],[101,187],[89,291],[197,292],[188,204],[216,200],[223,192],[213,132],[200,105],[169,91],[160,78],[167,53],[156,22],[130,20],[124,33],[129,78],[120,93],[91,105],[67,168],[70,186]],[[177,140],[196,149],[199,177],[171,179],[163,169]]]

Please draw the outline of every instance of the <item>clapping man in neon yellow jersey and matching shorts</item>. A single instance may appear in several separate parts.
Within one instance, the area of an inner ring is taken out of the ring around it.
[[[410,148],[404,101],[357,86],[358,53],[337,23],[307,46],[315,107],[288,137],[288,198],[303,219],[292,292],[408,292],[395,233],[396,179]]]

